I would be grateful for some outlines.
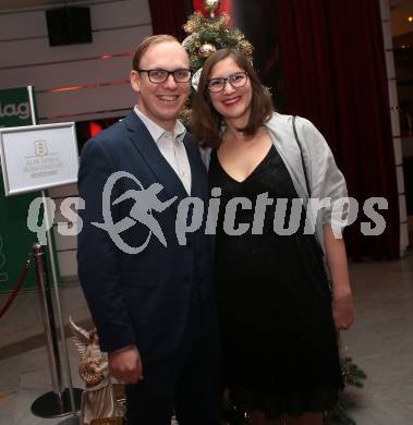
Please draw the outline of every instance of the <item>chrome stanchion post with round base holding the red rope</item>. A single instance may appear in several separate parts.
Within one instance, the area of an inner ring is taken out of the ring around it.
[[[36,416],[40,417],[59,417],[65,416],[70,413],[75,415],[76,406],[78,406],[80,403],[74,405],[68,389],[63,389],[53,304],[51,300],[50,286],[47,279],[45,252],[44,247],[39,243],[33,245],[33,255],[36,265],[36,277],[46,336],[46,349],[50,365],[52,391],[37,398],[32,404],[32,412]],[[78,389],[76,390],[76,399],[80,400],[82,391]],[[78,423],[77,416],[75,416],[71,423]]]

